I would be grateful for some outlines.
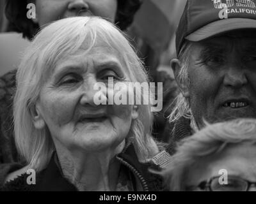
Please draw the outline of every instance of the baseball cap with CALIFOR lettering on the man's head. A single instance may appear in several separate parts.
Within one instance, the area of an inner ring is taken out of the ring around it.
[[[256,29],[256,0],[188,0],[176,31],[176,51],[184,40],[201,41],[236,29]]]

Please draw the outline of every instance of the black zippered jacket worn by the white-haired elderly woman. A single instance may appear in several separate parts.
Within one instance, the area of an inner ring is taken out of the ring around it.
[[[161,178],[148,171],[148,168],[155,170],[159,166],[154,163],[140,163],[134,147],[129,145],[124,152],[116,156],[118,161],[124,165],[133,175],[133,181],[136,183],[135,191],[162,191],[163,185]],[[24,173],[17,179],[11,180],[1,187],[1,191],[77,191],[76,187],[71,184],[62,175],[60,165],[56,162],[56,154],[53,154],[47,168],[36,173],[36,184],[27,184],[28,174]],[[139,185],[138,185],[139,182]],[[137,188],[141,186],[142,188]]]

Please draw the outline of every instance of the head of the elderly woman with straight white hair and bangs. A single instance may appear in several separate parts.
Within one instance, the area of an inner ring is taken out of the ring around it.
[[[105,101],[115,94],[109,77],[114,85],[148,81],[131,45],[110,22],[66,18],[36,36],[20,64],[14,99],[17,148],[32,168],[42,170],[55,149],[117,154],[133,143],[139,159],[150,157],[150,105],[95,103],[96,93]],[[96,83],[108,91],[96,91]]]

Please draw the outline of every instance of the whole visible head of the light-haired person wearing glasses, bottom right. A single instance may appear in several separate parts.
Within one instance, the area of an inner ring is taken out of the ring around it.
[[[184,139],[165,176],[170,191],[255,191],[256,120],[207,125]]]

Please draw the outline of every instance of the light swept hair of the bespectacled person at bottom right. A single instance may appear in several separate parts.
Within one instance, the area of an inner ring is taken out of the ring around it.
[[[238,143],[256,143],[255,119],[206,123],[205,128],[179,143],[172,161],[161,172],[166,186],[170,191],[185,191],[186,174],[196,161],[220,153],[230,145]]]

